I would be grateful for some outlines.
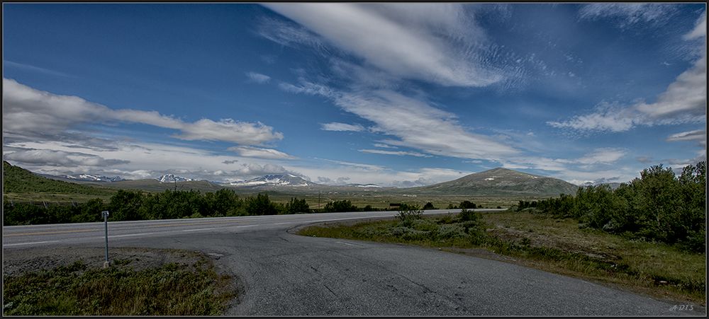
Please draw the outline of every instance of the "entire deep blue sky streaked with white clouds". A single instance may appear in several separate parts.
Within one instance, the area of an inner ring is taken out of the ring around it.
[[[3,157],[50,174],[625,182],[706,158],[705,4],[3,4]]]

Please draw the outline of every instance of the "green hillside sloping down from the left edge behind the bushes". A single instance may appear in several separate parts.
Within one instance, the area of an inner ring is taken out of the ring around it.
[[[45,195],[90,195],[106,197],[116,193],[106,187],[79,185],[73,182],[50,180],[19,166],[3,161],[3,195],[43,193]]]

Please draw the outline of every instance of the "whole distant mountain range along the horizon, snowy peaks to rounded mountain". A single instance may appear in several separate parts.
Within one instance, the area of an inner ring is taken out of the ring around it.
[[[37,174],[40,175],[40,174]],[[41,175],[53,180],[78,182],[81,184],[105,185],[111,188],[125,188],[137,190],[161,191],[172,188],[182,190],[201,190],[213,192],[221,188],[231,188],[239,193],[252,193],[261,191],[276,191],[293,194],[311,194],[313,192],[330,193],[376,193],[379,195],[471,195],[471,196],[558,196],[561,193],[575,194],[579,186],[540,175],[494,168],[480,173],[466,175],[457,180],[440,182],[422,187],[381,187],[376,184],[347,184],[323,185],[311,182],[300,176],[288,173],[272,173],[237,182],[209,182],[206,180],[193,180],[174,174],[165,174],[160,178],[143,180],[125,180],[119,176],[107,177],[97,174],[78,175]],[[177,185],[172,185],[176,184]],[[611,187],[618,187],[618,183],[609,183]],[[585,185],[584,185],[585,186]]]

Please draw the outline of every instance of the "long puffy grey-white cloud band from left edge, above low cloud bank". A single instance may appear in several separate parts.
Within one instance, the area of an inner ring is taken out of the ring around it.
[[[77,96],[39,91],[3,78],[3,134],[46,136],[60,134],[79,124],[116,120],[177,129],[181,134],[174,134],[173,137],[189,141],[257,145],[283,139],[283,134],[260,122],[237,122],[232,119],[184,122],[155,111],[113,110]]]

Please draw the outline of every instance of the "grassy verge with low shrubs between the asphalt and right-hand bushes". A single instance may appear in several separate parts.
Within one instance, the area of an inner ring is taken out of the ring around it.
[[[542,214],[504,211],[472,219],[447,214],[310,226],[298,233],[440,248],[706,306],[705,254],[631,240]]]

